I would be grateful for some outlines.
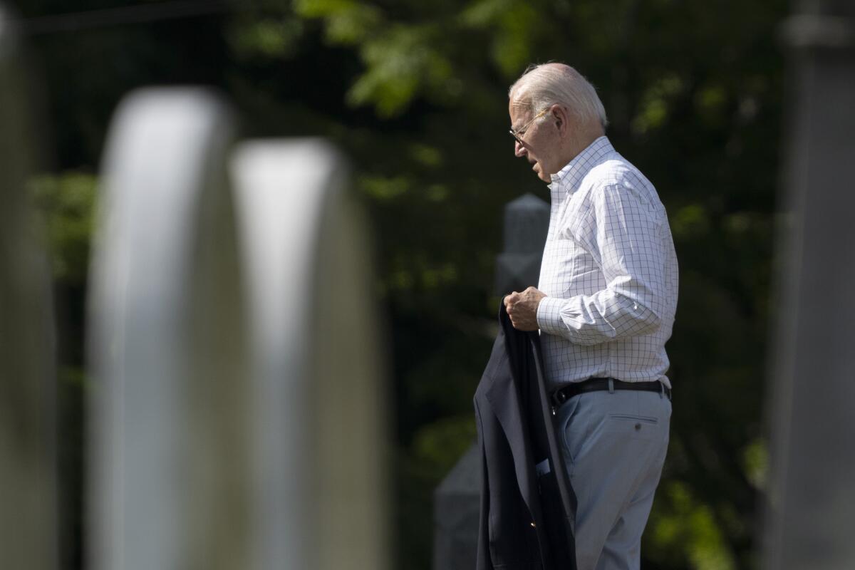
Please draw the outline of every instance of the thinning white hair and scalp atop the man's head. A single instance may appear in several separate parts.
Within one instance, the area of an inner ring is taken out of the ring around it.
[[[567,107],[581,123],[598,121],[605,128],[603,103],[581,73],[563,63],[531,65],[508,90],[510,101],[527,105],[537,114],[556,103]]]

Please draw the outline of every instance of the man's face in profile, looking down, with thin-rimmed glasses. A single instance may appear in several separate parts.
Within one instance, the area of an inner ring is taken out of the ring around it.
[[[514,142],[514,155],[524,156],[532,164],[532,170],[538,178],[551,182],[550,175],[564,166],[558,164],[561,161],[557,160],[560,141],[551,112],[547,111],[540,120],[534,120],[536,115],[531,109],[513,101],[508,105],[508,112],[510,127],[522,139],[522,143]]]

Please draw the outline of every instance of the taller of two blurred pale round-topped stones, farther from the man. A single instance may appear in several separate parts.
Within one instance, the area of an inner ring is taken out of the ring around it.
[[[103,159],[90,280],[97,570],[251,567],[232,123],[207,91],[139,91]]]

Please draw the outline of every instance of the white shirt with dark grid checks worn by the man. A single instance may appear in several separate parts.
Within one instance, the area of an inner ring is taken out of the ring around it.
[[[600,137],[552,175],[537,311],[551,385],[662,380],[677,306],[668,217],[648,179]]]

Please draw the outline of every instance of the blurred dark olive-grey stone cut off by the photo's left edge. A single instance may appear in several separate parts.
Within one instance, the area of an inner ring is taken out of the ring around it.
[[[57,566],[50,274],[27,200],[27,69],[0,4],[0,568]]]

